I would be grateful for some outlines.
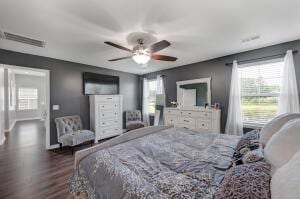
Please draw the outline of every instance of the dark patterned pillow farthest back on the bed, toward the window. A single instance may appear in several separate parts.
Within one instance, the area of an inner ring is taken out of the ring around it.
[[[234,154],[235,161],[240,160],[246,152],[255,150],[259,148],[259,146],[260,142],[258,130],[253,130],[244,134],[237,144]]]

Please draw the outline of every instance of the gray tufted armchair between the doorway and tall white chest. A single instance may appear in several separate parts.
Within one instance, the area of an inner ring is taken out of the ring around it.
[[[90,130],[82,130],[82,122],[80,116],[66,116],[55,119],[57,129],[57,140],[60,146],[71,146],[72,154],[76,145],[95,139],[94,132]]]

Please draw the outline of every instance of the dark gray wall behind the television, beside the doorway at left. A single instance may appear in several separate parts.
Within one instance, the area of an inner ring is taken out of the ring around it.
[[[140,76],[138,75],[2,49],[0,49],[0,63],[50,70],[50,104],[51,107],[53,104],[60,105],[59,111],[50,111],[51,144],[57,143],[54,125],[56,117],[79,114],[84,128],[89,127],[89,100],[83,95],[83,72],[119,76],[123,110],[141,107]]]

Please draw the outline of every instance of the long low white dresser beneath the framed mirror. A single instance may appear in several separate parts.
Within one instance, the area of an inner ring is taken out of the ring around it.
[[[221,110],[213,108],[165,108],[165,125],[183,127],[191,130],[207,130],[208,132],[220,133]]]

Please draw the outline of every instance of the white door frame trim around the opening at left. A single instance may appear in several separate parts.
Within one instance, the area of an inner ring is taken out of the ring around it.
[[[46,127],[46,149],[56,148],[56,146],[51,146],[50,144],[50,70],[46,69],[39,69],[39,68],[31,68],[31,67],[24,67],[24,66],[15,66],[15,65],[8,65],[8,64],[0,64],[0,67],[4,69],[21,69],[21,70],[31,70],[45,73],[45,80],[46,80],[46,112],[47,117],[45,119],[45,127]]]

